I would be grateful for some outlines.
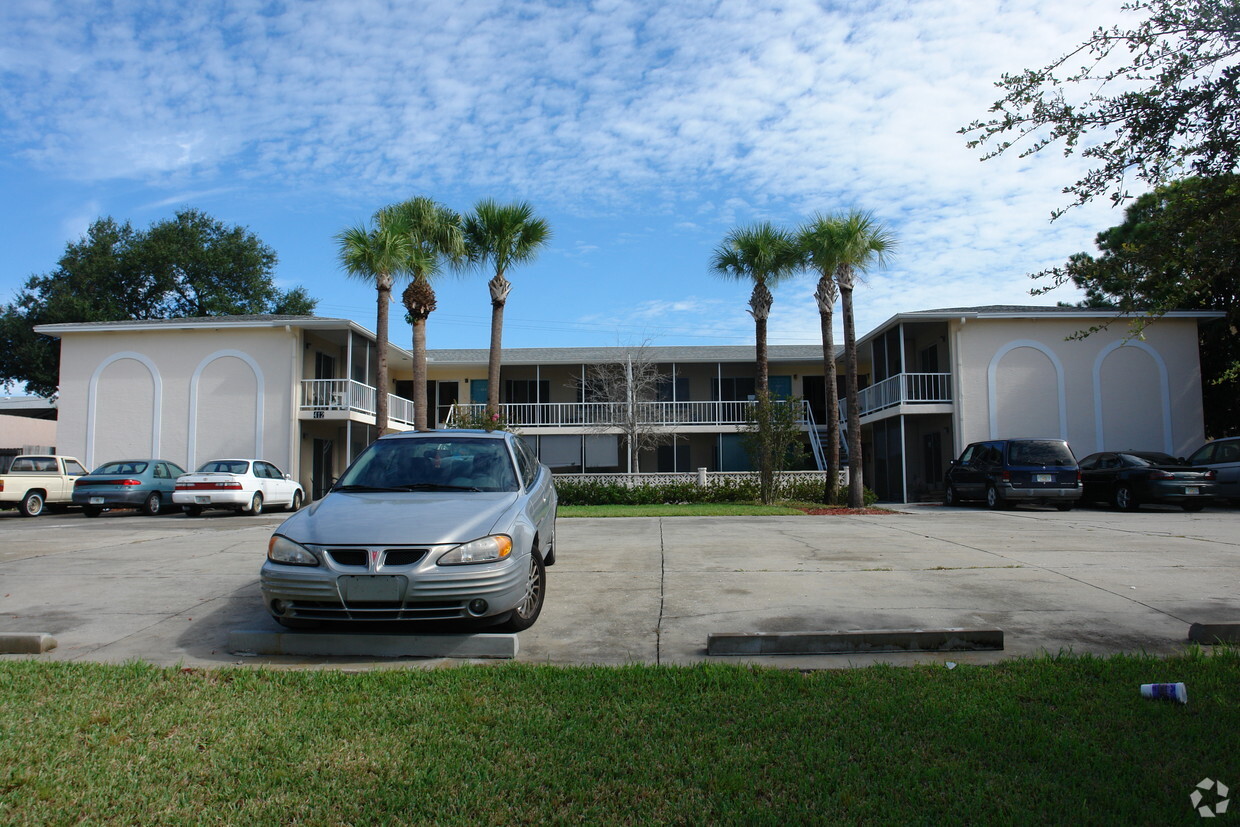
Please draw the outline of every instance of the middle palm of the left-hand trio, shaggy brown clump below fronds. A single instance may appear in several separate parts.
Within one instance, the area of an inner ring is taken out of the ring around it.
[[[427,197],[409,198],[388,207],[384,221],[404,234],[408,253],[404,264],[413,280],[401,296],[413,325],[413,427],[428,428],[430,403],[427,399],[427,319],[435,309],[432,279],[446,260],[459,267],[465,258],[461,217]]]

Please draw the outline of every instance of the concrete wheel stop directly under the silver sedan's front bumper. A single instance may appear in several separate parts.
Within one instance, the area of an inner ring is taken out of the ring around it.
[[[463,657],[511,658],[517,636],[351,635],[317,631],[232,631],[233,655],[312,655],[320,657]]]

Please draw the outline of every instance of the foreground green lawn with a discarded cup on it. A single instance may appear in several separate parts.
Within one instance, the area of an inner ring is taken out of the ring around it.
[[[1138,686],[1184,681],[1189,703]],[[0,662],[0,822],[1195,822],[1240,655],[169,670]]]

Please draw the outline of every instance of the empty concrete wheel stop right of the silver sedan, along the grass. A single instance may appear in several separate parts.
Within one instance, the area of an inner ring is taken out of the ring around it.
[[[708,635],[707,655],[869,655],[1002,650],[1002,629],[870,629]]]

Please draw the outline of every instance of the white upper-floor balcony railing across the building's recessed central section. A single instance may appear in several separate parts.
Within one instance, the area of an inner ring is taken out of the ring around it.
[[[500,414],[512,428],[621,427],[627,422],[676,428],[683,425],[743,425],[753,402],[529,402],[500,405]],[[802,404],[801,422],[810,422],[810,407]],[[456,404],[448,417],[480,418],[485,404]]]

